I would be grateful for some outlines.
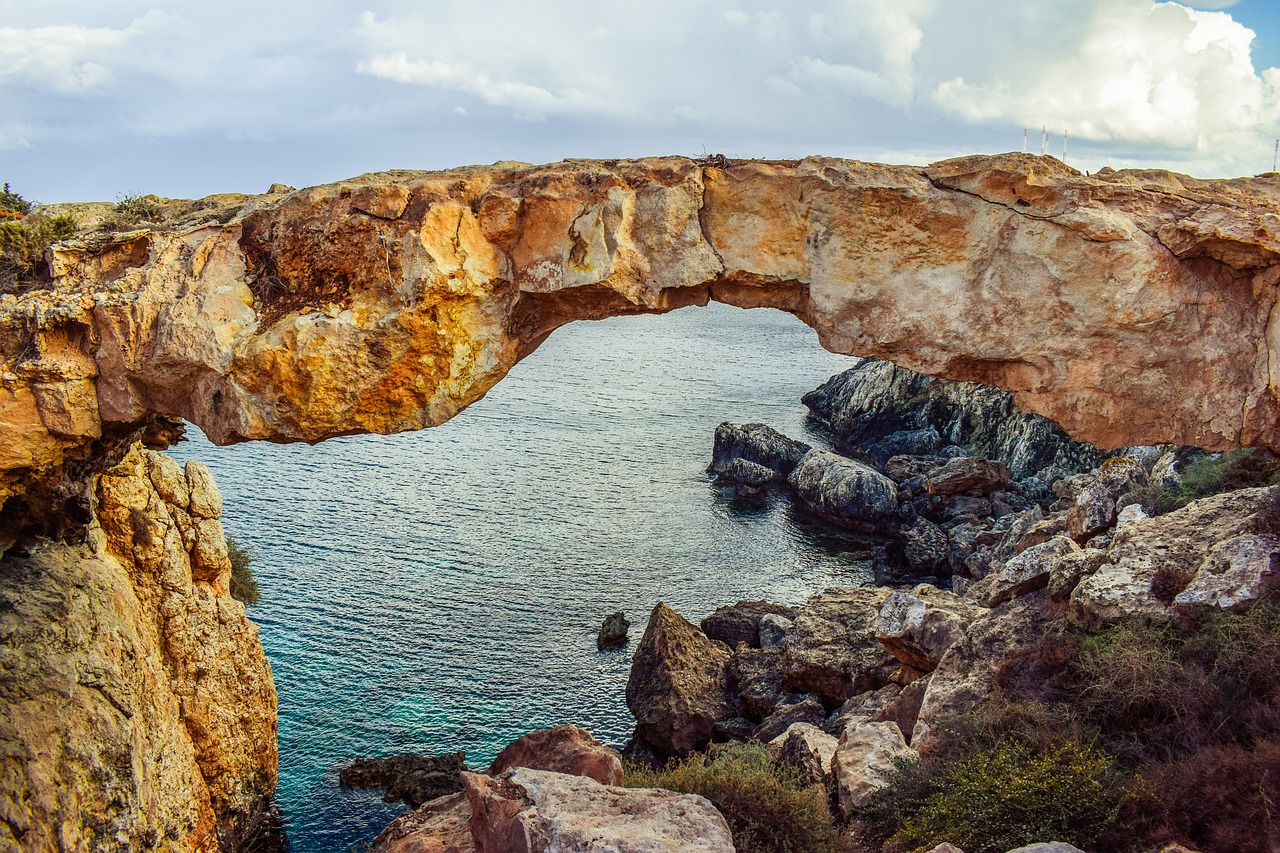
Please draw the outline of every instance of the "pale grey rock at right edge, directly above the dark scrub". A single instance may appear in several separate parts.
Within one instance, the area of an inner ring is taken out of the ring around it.
[[[1213,546],[1196,576],[1174,597],[1190,610],[1240,610],[1280,589],[1280,537],[1248,534]]]

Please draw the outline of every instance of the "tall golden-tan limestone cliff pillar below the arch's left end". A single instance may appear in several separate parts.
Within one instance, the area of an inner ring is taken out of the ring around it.
[[[275,688],[221,498],[134,446],[83,543],[0,560],[0,848],[219,850],[275,789]]]

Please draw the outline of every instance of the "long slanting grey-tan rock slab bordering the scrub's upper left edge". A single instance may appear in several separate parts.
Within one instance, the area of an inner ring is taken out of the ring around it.
[[[1051,621],[1044,613],[1044,593],[1032,593],[1005,602],[969,624],[963,638],[951,644],[929,676],[911,745],[924,749],[933,727],[986,701],[996,685],[1000,667],[1019,652],[1030,648]]]

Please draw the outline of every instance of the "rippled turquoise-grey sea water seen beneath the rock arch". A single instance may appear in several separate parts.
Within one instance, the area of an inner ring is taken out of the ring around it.
[[[698,621],[868,583],[856,543],[783,500],[735,506],[704,471],[722,420],[808,435],[800,394],[851,362],[790,315],[713,305],[566,327],[421,433],[219,448],[191,429],[170,452],[209,464],[255,552],[291,849],[348,850],[402,811],[338,786],[356,756],[465,749],[483,768],[562,722],[625,742],[659,599]],[[596,652],[616,610],[632,644]]]

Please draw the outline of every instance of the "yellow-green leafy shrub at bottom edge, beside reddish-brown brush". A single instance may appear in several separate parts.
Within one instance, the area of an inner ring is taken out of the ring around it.
[[[1111,757],[1079,743],[1036,751],[1007,740],[950,762],[937,790],[890,839],[923,853],[950,841],[968,853],[1005,853],[1044,840],[1088,848],[1128,799]]]

